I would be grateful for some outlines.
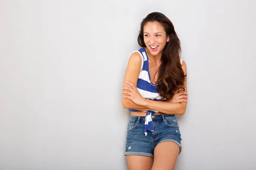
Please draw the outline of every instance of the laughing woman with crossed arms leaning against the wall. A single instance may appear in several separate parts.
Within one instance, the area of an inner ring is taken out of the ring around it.
[[[175,114],[183,115],[187,103],[180,40],[172,22],[153,12],[141,23],[138,43],[142,48],[129,57],[122,88],[122,105],[131,111],[125,150],[128,167],[174,169],[181,152]]]

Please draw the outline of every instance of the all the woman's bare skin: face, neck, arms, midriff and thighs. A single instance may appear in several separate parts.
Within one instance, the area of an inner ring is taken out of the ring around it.
[[[155,84],[158,74],[156,74],[160,66],[160,58],[163,53],[163,48],[169,41],[163,26],[158,22],[148,22],[144,25],[144,42],[146,52],[149,58],[150,80]],[[158,46],[154,51],[151,46]],[[125,79],[122,88],[122,104],[124,108],[132,108],[141,112],[131,112],[131,115],[145,116],[143,111],[156,110],[160,111],[155,114],[179,114],[183,115],[186,110],[187,91],[186,78],[184,81],[185,91],[176,91],[172,99],[167,101],[153,101],[144,99],[137,91],[136,84],[140,74],[141,66],[140,54],[133,53],[128,61]],[[186,63],[183,61],[182,69],[186,75]],[[155,77],[154,77],[155,75]],[[154,164],[153,159],[148,156],[126,156],[129,170],[174,170],[180,148],[174,142],[162,142],[157,144],[154,149]]]

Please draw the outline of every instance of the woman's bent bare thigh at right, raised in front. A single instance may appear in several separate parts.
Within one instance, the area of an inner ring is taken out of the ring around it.
[[[157,144],[154,150],[154,164],[151,170],[174,170],[180,147],[170,141]]]

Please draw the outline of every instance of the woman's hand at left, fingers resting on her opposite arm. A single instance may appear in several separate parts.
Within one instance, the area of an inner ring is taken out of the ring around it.
[[[134,84],[132,84],[131,82],[126,82],[128,85],[130,85],[131,87],[124,87],[122,88],[122,97],[125,99],[130,99],[131,101],[133,101],[135,104],[137,105],[145,105],[145,100],[139,93],[139,91],[137,90],[137,88],[134,86]],[[124,95],[126,94],[126,95]],[[127,96],[128,95],[128,96]]]

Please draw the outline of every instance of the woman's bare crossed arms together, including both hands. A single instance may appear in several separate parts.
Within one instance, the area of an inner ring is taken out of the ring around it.
[[[166,101],[154,101],[144,99],[137,91],[137,79],[140,74],[141,57],[137,52],[131,54],[128,60],[127,70],[122,90],[122,105],[124,108],[136,109],[139,111],[155,110],[165,114],[183,115],[186,111],[186,96],[187,91],[175,93],[172,99]],[[182,69],[186,75],[186,63],[182,62]],[[184,80],[184,88],[186,89],[186,77]],[[178,102],[177,102],[178,101]]]

